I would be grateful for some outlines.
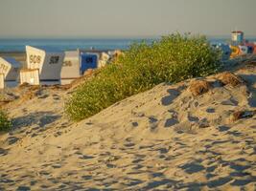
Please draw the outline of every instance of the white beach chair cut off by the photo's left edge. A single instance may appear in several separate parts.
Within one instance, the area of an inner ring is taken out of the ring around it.
[[[0,89],[15,86],[20,63],[12,57],[0,57]]]

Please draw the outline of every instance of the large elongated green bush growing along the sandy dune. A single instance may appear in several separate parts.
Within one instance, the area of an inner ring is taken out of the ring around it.
[[[133,44],[119,63],[109,64],[85,81],[66,102],[65,111],[74,120],[91,117],[159,83],[214,74],[220,58],[204,36],[176,33],[151,44]]]

